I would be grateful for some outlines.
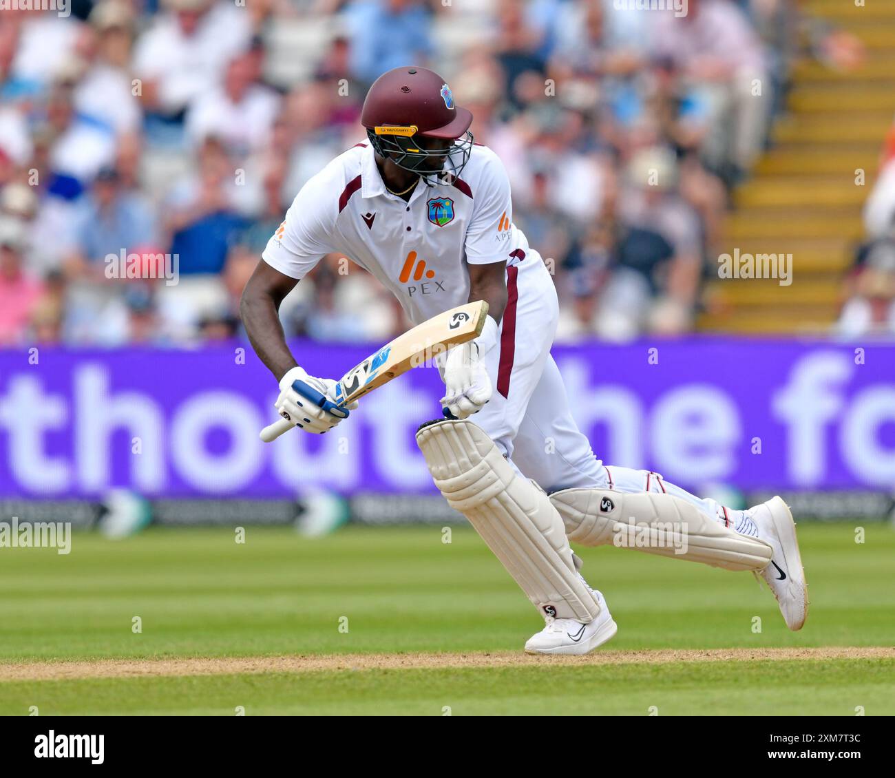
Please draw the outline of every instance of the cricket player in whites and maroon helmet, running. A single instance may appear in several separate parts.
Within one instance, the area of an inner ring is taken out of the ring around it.
[[[242,300],[251,344],[279,381],[277,411],[301,432],[323,434],[341,421],[294,389],[300,380],[336,399],[336,381],[303,370],[277,317],[324,255],[344,253],[371,272],[414,324],[484,300],[490,315],[481,336],[439,363],[448,418],[424,424],[417,443],[442,494],[544,618],[525,650],[585,654],[616,633],[569,540],[752,570],[788,627],[801,628],[805,574],[779,497],[732,510],[660,474],[594,457],[550,355],[558,318],[552,278],[513,224],[507,172],[473,142],[472,121],[437,73],[391,70],[363,104],[368,141],[298,192]]]

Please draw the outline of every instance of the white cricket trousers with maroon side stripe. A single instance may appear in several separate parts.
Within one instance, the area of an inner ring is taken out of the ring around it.
[[[732,526],[732,511],[714,500],[702,500],[651,471],[603,466],[593,456],[590,441],[572,418],[566,387],[550,355],[558,313],[556,287],[538,252],[507,264],[507,308],[500,321],[499,347],[485,357],[494,393],[471,421],[545,492],[668,492]]]

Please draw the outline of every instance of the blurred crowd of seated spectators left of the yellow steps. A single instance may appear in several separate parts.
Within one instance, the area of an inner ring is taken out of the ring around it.
[[[239,295],[268,237],[302,184],[363,139],[366,88],[401,64],[445,76],[503,159],[516,225],[564,301],[559,338],[689,329],[729,191],[763,150],[794,58],[825,38],[790,0],[688,0],[680,18],[639,4],[4,10],[0,345],[240,336]],[[176,256],[177,283],[128,278],[164,276],[160,255]],[[332,341],[405,327],[337,255],[282,318]]]

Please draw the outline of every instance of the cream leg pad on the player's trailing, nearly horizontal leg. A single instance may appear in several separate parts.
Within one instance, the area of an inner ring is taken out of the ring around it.
[[[573,543],[636,548],[726,570],[763,570],[771,561],[768,543],[720,525],[672,494],[564,489],[550,502]]]

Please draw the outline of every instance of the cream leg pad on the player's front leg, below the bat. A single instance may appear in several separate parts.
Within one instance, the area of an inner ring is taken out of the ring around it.
[[[575,569],[550,498],[469,421],[422,426],[416,442],[447,503],[482,535],[541,615],[589,622],[599,601]]]

